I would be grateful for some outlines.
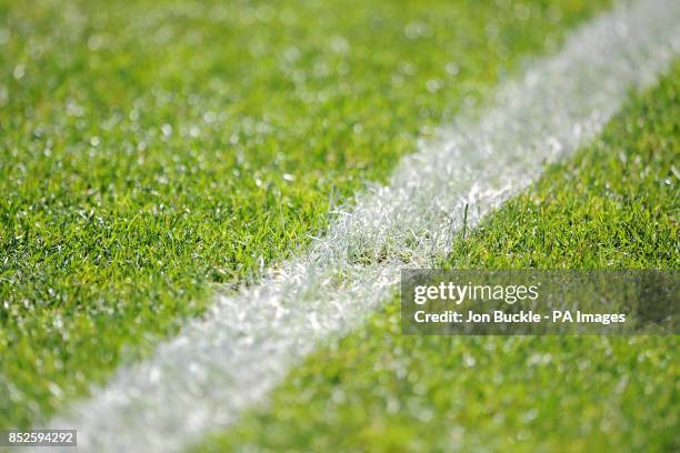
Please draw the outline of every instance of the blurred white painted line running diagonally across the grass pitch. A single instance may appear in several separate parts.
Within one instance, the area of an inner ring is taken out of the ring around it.
[[[339,212],[299,259],[221,295],[148,360],[120,370],[51,427],[90,451],[177,451],[260,402],[320,340],[357,326],[399,269],[450,249],[463,207],[474,224],[556,161],[593,139],[629,90],[648,87],[680,49],[680,1],[618,6],[552,58],[504,84],[480,120],[458,121]]]

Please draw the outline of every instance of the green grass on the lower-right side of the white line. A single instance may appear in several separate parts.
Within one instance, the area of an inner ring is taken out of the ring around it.
[[[452,268],[678,269],[680,66],[454,243]],[[198,451],[676,451],[670,336],[406,336],[396,298]],[[250,449],[250,450],[249,450]]]

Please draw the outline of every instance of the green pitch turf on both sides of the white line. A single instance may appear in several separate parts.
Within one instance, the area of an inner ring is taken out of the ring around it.
[[[50,427],[72,405],[97,406],[121,370],[148,363],[190,320],[210,319],[217,294],[286,269],[351,212],[356,194],[389,184],[420,140],[483,118],[499,85],[611,8],[1,1],[0,429]],[[602,77],[622,79],[617,69]],[[596,137],[430,259],[677,269],[680,67],[663,72],[643,90],[631,83]],[[201,421],[200,441],[161,436],[150,449],[680,442],[676,335],[411,338],[400,333],[398,298],[381,302],[314,342],[238,417]],[[238,399],[258,386],[252,379],[196,397]],[[196,414],[178,412],[172,420],[192,423]],[[139,429],[152,437],[157,420]]]

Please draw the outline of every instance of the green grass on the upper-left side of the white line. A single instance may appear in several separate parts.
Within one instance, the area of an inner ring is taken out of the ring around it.
[[[0,0],[0,426],[288,256],[606,3]]]

